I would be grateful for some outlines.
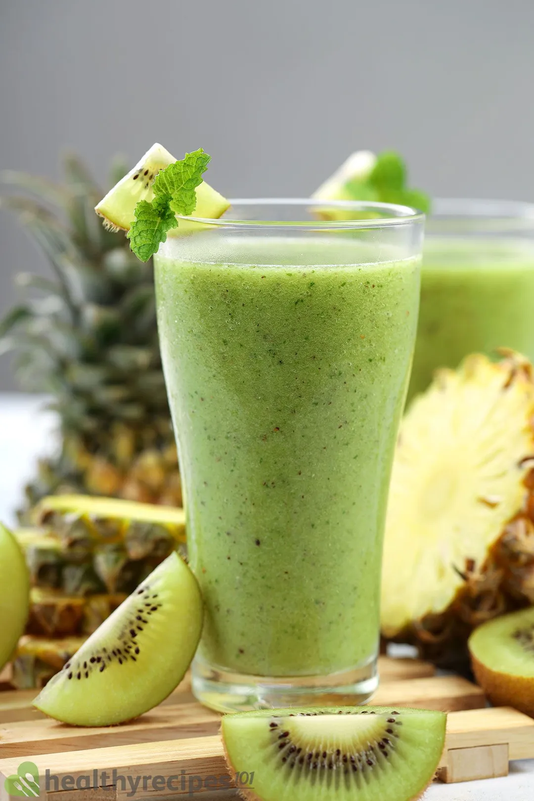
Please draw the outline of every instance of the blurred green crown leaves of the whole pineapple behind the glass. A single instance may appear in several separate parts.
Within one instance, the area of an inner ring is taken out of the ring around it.
[[[125,172],[116,163],[114,183]],[[65,173],[64,186],[0,175],[0,207],[18,215],[54,273],[18,276],[26,297],[0,321],[0,353],[16,353],[22,384],[55,397],[64,432],[168,417],[152,265],[98,223],[102,192],[76,156],[66,157]],[[8,194],[13,187],[18,194]]]

